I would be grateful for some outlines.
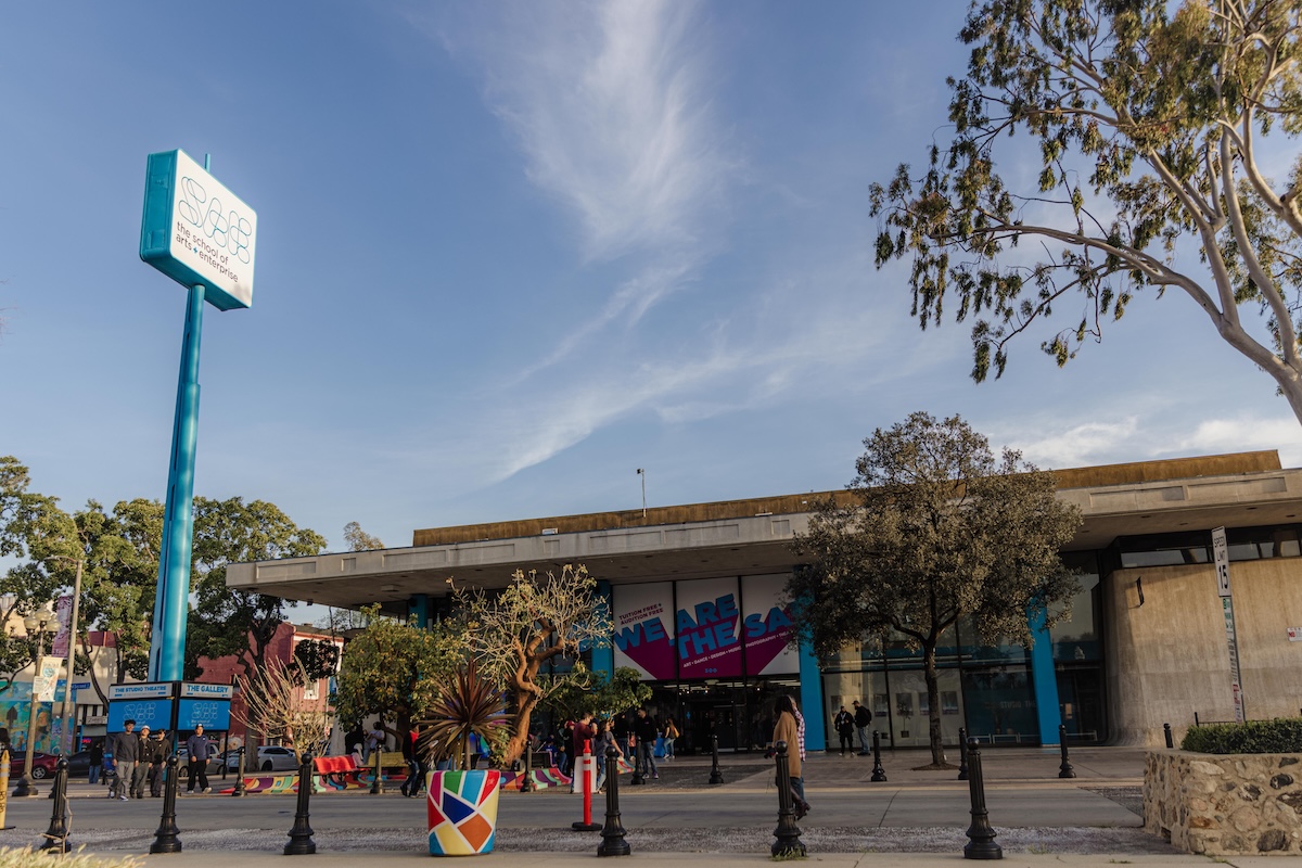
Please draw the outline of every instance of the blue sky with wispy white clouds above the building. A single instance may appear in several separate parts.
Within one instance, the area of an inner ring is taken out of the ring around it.
[[[910,319],[867,187],[943,135],[965,9],[7,4],[0,454],[68,508],[163,497],[185,292],[138,245],[180,147],[259,221],[253,308],[204,318],[195,492],[333,548],[637,509],[638,467],[650,505],[838,488],[914,410],[1046,467],[1302,463],[1176,292],[983,385],[969,325]]]

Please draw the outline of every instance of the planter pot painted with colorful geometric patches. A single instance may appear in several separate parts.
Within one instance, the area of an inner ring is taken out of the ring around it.
[[[501,772],[430,772],[430,855],[474,856],[492,852],[497,833]]]

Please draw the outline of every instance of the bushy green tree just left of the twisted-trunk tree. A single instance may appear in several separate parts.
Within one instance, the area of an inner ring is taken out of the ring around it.
[[[465,664],[466,636],[454,622],[422,630],[379,617],[378,605],[365,612],[370,626],[344,645],[335,711],[346,727],[379,716],[401,744],[432,707],[437,683]]]

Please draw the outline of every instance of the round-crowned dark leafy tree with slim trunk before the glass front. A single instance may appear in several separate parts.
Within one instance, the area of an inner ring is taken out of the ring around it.
[[[940,738],[936,647],[970,616],[979,636],[1030,645],[1027,617],[1070,618],[1075,578],[1059,549],[1081,524],[1057,498],[1053,476],[1005,449],[996,461],[958,416],[924,413],[863,441],[849,502],[824,502],[796,537],[814,563],[788,582],[796,632],[829,658],[894,630],[922,651],[931,757]]]

